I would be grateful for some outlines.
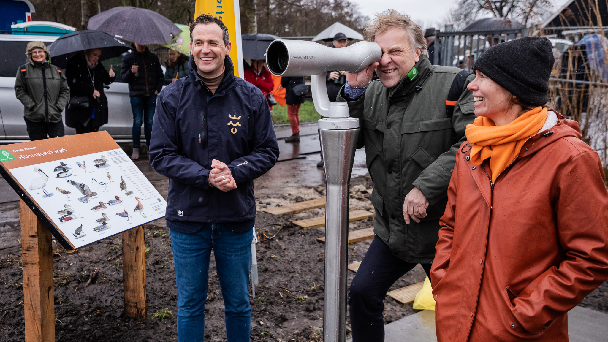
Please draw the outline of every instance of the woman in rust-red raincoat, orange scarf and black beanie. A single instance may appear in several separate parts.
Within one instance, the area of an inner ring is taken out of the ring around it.
[[[608,277],[603,167],[578,123],[547,108],[552,67],[537,37],[475,62],[477,119],[430,270],[440,342],[568,341],[568,310]]]

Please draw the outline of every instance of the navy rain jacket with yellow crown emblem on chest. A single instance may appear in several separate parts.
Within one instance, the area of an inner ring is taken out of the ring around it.
[[[150,142],[153,169],[167,176],[167,220],[201,223],[244,222],[255,218],[254,179],[278,158],[277,137],[266,97],[235,77],[226,56],[224,79],[215,94],[190,75],[161,91]],[[201,116],[207,118],[208,143],[199,142]],[[207,184],[213,159],[225,162],[237,189],[222,192]]]

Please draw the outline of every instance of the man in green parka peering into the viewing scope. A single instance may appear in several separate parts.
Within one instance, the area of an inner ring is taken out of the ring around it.
[[[376,15],[367,40],[382,60],[347,74],[337,97],[361,125],[376,217],[375,239],[350,285],[353,342],[384,341],[382,301],[418,263],[429,274],[456,152],[475,119],[474,74],[432,66],[418,24],[395,10]],[[370,83],[373,71],[379,80]]]

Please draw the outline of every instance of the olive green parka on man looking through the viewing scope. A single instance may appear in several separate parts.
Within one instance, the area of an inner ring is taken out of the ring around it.
[[[371,82],[357,99],[345,96],[350,115],[360,120],[358,148],[365,146],[367,169],[374,182],[371,203],[375,207],[374,232],[397,257],[410,263],[431,263],[435,256],[439,218],[447,203],[456,152],[466,140],[466,125],[475,119],[468,75],[451,116],[446,100],[456,75],[463,71],[433,66],[421,55],[411,81],[402,79],[394,88],[380,80]],[[417,187],[429,201],[427,217],[406,225],[402,214],[405,197]]]

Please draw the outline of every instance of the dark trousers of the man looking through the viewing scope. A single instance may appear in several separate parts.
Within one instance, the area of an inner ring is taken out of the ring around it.
[[[394,256],[386,243],[374,237],[348,288],[353,342],[384,341],[384,296],[393,283],[416,265]],[[430,263],[421,265],[428,276]]]

